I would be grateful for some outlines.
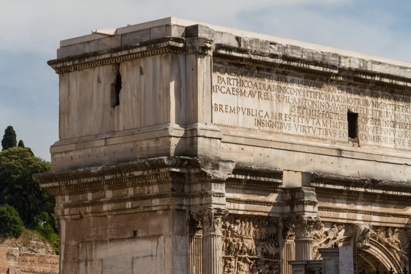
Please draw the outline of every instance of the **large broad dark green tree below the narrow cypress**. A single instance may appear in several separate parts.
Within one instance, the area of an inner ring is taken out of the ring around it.
[[[26,228],[36,226],[35,217],[42,212],[53,215],[55,200],[34,181],[33,174],[50,171],[50,164],[23,147],[0,153],[0,204],[16,208]]]

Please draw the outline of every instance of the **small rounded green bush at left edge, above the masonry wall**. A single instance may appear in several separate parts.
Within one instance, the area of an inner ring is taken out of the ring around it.
[[[18,212],[7,203],[0,206],[0,236],[18,238],[23,233],[23,222]]]

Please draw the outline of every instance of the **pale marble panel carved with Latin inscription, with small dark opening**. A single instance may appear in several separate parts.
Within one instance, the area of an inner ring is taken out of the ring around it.
[[[411,150],[410,95],[214,62],[212,121],[249,132]]]

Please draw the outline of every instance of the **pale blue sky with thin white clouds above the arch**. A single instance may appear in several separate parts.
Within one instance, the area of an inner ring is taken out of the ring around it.
[[[0,0],[0,138],[50,160],[58,140],[59,41],[175,16],[411,62],[405,0]]]

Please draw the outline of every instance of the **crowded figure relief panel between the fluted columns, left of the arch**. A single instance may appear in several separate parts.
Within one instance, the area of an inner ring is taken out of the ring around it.
[[[279,273],[277,219],[229,216],[221,231],[224,274]]]

